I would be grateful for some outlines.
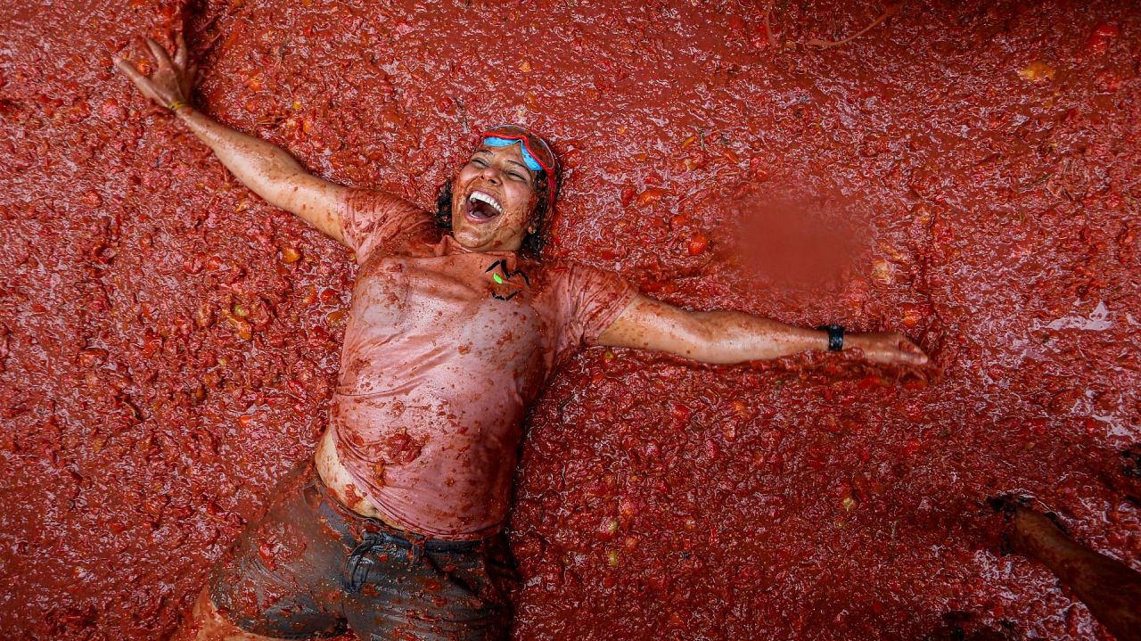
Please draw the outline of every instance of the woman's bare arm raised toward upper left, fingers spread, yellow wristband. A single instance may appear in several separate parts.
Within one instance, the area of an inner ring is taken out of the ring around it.
[[[139,91],[159,106],[173,111],[253,193],[345,243],[340,211],[348,188],[310,175],[281,147],[234,131],[196,112],[189,104],[189,96],[197,68],[187,66],[186,42],[181,34],[173,59],[154,40],[148,38],[146,43],[155,64],[155,72],[149,78],[128,60],[115,60],[115,66]]]

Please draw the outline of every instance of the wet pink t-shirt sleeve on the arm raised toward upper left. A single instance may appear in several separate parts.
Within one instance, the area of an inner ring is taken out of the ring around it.
[[[350,189],[341,205],[341,236],[356,252],[358,265],[378,250],[398,252],[404,243],[432,226],[428,212],[377,189]]]

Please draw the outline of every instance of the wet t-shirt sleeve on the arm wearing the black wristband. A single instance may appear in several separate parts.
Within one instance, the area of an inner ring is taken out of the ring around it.
[[[598,335],[638,295],[638,287],[614,271],[577,262],[567,263],[560,285],[564,335],[559,342],[572,349],[598,344]]]

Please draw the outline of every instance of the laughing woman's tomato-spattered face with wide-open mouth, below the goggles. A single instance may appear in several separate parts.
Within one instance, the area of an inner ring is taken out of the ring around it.
[[[480,146],[452,184],[452,235],[472,251],[518,251],[534,230],[535,172],[519,145]]]

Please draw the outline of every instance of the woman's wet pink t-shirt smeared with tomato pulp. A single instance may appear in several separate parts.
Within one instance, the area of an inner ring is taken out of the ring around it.
[[[353,192],[341,218],[361,271],[331,411],[337,454],[390,522],[438,538],[494,533],[527,406],[637,290],[574,262],[472,252],[377,192]]]

